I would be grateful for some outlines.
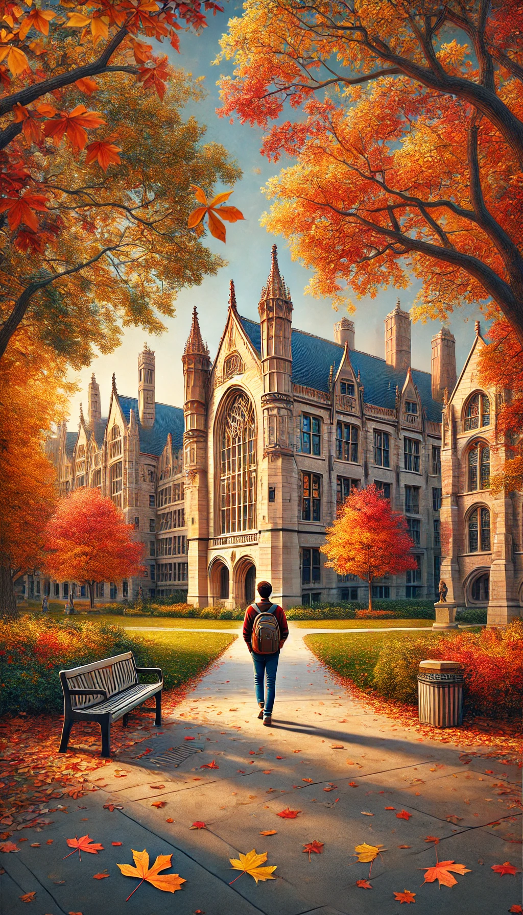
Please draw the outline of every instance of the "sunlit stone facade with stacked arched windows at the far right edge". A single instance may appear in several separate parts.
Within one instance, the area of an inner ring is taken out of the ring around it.
[[[494,497],[489,490],[490,476],[510,457],[496,429],[508,392],[479,386],[484,347],[476,322],[472,350],[443,404],[441,579],[448,587],[447,603],[488,608],[488,623],[496,626],[521,615],[523,500],[519,492]]]

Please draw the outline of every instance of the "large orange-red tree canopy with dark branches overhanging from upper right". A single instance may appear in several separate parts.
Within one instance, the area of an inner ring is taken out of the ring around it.
[[[344,300],[420,285],[417,313],[499,308],[523,343],[520,0],[247,0],[229,23],[221,113],[295,164],[265,224]],[[345,300],[346,301],[346,300]]]

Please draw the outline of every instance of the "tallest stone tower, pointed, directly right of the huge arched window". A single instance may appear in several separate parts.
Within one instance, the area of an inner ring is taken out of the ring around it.
[[[276,245],[258,306],[261,329],[263,459],[259,485],[265,514],[258,519],[258,571],[273,587],[273,601],[300,601],[298,517],[300,481],[292,450],[292,302],[279,273]],[[260,430],[261,434],[261,430]]]

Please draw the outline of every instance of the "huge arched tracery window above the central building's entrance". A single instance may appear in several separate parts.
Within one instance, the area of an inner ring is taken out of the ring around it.
[[[236,393],[220,429],[220,513],[222,533],[256,527],[256,422],[253,404]]]

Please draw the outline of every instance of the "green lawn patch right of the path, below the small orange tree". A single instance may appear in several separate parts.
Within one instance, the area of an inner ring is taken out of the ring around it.
[[[420,620],[409,620],[409,622]],[[420,633],[429,636],[429,632]],[[394,639],[417,639],[417,632],[393,632]],[[390,638],[387,632],[366,632],[361,635],[306,635],[304,642],[313,654],[334,673],[348,677],[358,686],[368,686],[376,666],[379,652],[385,640]],[[441,632],[433,638],[441,639]]]

